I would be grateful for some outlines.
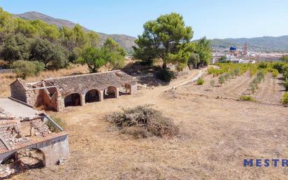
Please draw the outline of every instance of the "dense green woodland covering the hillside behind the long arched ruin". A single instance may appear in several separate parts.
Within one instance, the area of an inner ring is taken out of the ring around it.
[[[2,9],[0,19],[0,66],[15,68],[22,78],[76,63],[87,64],[91,72],[103,66],[109,70],[124,66],[126,52],[117,42],[108,37],[101,45],[99,34],[85,32],[80,25],[57,27],[15,18]]]

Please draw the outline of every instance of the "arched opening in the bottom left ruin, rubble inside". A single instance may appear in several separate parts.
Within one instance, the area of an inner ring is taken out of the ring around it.
[[[1,163],[1,167],[9,169],[0,174],[5,179],[13,174],[25,172],[29,169],[38,169],[45,166],[45,154],[37,148],[25,148],[13,153]]]

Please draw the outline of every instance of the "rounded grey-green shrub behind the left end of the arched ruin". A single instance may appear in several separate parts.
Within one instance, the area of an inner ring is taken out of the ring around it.
[[[28,76],[36,76],[44,69],[44,64],[41,62],[31,62],[18,60],[13,63],[12,67],[18,77],[27,78]]]

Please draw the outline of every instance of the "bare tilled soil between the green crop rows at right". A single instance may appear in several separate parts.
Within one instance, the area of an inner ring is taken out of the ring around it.
[[[273,78],[270,73],[265,76],[264,81],[259,84],[259,88],[254,94],[252,94],[252,90],[250,90],[250,83],[255,76],[250,76],[248,72],[236,78],[229,78],[222,85],[218,83],[218,78],[218,76],[213,77],[213,75],[206,73],[203,76],[205,81],[203,85],[189,83],[189,85],[185,85],[185,87],[182,88],[186,88],[187,91],[189,89],[189,92],[196,95],[207,95],[210,97],[239,99],[241,95],[247,95],[254,97],[258,102],[266,104],[280,104],[282,94],[285,92],[281,84],[281,76]],[[211,80],[215,81],[214,87],[210,85]]]

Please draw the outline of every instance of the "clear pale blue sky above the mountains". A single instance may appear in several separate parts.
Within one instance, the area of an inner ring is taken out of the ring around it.
[[[288,35],[288,0],[0,0],[10,13],[38,11],[96,32],[137,36],[143,23],[176,12],[194,39]]]

